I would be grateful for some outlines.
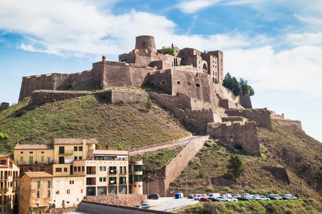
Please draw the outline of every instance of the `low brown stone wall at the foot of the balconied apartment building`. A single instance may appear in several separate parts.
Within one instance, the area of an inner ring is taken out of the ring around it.
[[[114,204],[114,195],[86,196],[86,201]],[[85,200],[85,199],[84,199]],[[147,201],[146,194],[116,194],[115,204],[133,207]]]

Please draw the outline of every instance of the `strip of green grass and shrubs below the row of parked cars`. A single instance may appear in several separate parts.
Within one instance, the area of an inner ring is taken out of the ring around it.
[[[296,214],[321,213],[319,202],[309,199],[302,201],[239,201],[239,202],[203,202],[174,212],[186,214]]]

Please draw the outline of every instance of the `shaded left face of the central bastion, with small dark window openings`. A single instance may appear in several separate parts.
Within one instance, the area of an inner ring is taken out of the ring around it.
[[[150,72],[148,73],[148,80],[151,83],[154,83],[157,87],[160,87],[169,94],[172,94],[171,69]],[[162,81],[166,81],[165,84],[161,84]]]

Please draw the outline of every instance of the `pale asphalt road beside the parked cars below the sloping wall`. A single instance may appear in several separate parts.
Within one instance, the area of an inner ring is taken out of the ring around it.
[[[195,201],[194,199],[188,198],[181,198],[181,199],[174,199],[173,197],[160,197],[159,199],[149,199],[149,201],[157,201],[160,205],[156,207],[151,207],[151,210],[166,210],[174,207],[184,206],[184,205],[191,205],[196,204],[199,201]]]

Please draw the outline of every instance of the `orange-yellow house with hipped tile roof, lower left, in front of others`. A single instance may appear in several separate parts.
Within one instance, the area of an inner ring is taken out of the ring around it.
[[[19,214],[48,210],[52,203],[52,178],[46,172],[25,172],[19,179]]]

